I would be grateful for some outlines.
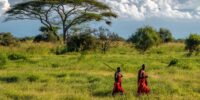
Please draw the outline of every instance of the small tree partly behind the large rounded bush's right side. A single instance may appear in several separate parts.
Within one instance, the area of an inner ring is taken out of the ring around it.
[[[166,43],[173,41],[172,33],[170,32],[170,30],[160,28],[158,33],[160,35],[160,38],[162,39],[162,42]]]

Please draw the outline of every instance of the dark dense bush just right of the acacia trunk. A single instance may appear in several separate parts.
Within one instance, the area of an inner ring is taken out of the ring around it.
[[[96,38],[87,32],[74,34],[68,39],[67,47],[69,51],[85,51],[96,47]]]

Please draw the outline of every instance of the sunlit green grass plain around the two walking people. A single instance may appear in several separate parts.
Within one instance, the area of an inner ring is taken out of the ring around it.
[[[0,66],[0,99],[11,100],[198,100],[200,99],[200,56],[187,57],[184,44],[169,43],[140,54],[130,44],[115,43],[107,54],[100,51],[52,52],[57,44],[22,43],[0,47],[7,57],[18,54],[26,59],[9,60]],[[168,66],[172,59],[178,63]],[[114,71],[122,65],[125,95],[111,96]],[[146,64],[149,96],[136,97],[137,71]]]

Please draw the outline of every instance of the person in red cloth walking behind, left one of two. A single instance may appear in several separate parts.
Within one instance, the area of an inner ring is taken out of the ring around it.
[[[113,96],[118,92],[120,92],[121,95],[124,94],[124,89],[122,88],[122,77],[123,75],[121,73],[120,67],[118,67],[114,75],[115,82],[114,82],[114,88],[112,92]]]

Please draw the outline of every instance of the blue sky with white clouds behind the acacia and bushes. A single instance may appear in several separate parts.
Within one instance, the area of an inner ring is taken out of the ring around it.
[[[4,12],[23,0],[0,0],[0,32],[11,32],[17,37],[39,33],[39,21],[19,20],[3,22]],[[118,14],[111,31],[128,38],[138,28],[151,25],[171,30],[175,38],[186,38],[190,33],[200,33],[200,0],[98,0],[108,4]]]

